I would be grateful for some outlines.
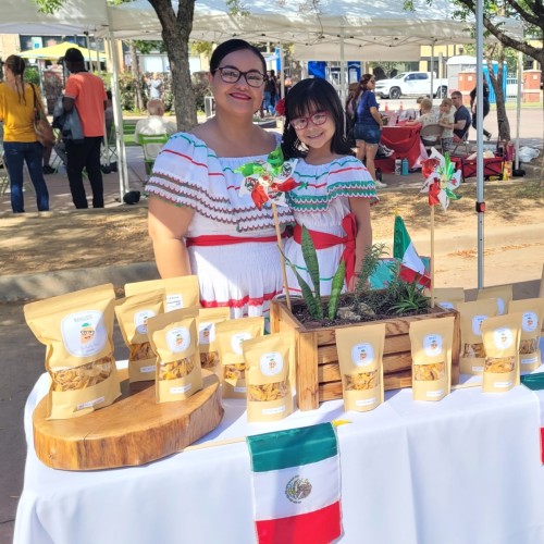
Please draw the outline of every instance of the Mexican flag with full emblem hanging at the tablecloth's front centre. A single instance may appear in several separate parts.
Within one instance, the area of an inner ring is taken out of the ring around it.
[[[248,436],[259,544],[329,544],[342,534],[332,423]]]

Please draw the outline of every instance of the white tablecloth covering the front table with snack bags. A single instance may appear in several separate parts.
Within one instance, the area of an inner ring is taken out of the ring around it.
[[[15,544],[245,544],[255,542],[249,455],[244,442],[184,452],[137,468],[67,472],[28,455]],[[542,544],[544,469],[539,406],[519,386],[505,394],[454,391],[440,403],[390,392],[367,413],[339,400],[276,424],[246,422],[226,400],[222,424],[202,442],[333,419],[342,462],[342,543]],[[311,544],[311,543],[309,543]]]

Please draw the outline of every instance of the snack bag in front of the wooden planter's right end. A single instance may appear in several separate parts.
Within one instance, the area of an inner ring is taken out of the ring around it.
[[[442,400],[452,390],[454,317],[410,323],[413,400]]]

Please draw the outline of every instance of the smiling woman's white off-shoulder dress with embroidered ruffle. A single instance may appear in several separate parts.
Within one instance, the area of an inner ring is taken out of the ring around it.
[[[280,144],[280,135],[276,135]],[[150,195],[195,211],[186,238],[232,236],[271,242],[187,247],[198,275],[202,307],[230,307],[232,318],[267,316],[270,300],[283,292],[280,252],[270,205],[258,210],[249,195],[238,196],[243,176],[234,171],[267,156],[218,157],[191,134],[172,136],[154,162],[146,186]],[[280,223],[292,223],[286,207]]]

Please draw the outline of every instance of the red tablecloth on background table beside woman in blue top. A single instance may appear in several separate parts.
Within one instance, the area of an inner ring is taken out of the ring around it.
[[[419,159],[422,149],[419,132],[421,125],[417,126],[384,126],[382,131],[382,139],[380,143],[395,151],[386,159],[375,159],[374,163],[382,172],[395,171],[395,159],[408,159],[408,166],[416,168],[419,164]]]

